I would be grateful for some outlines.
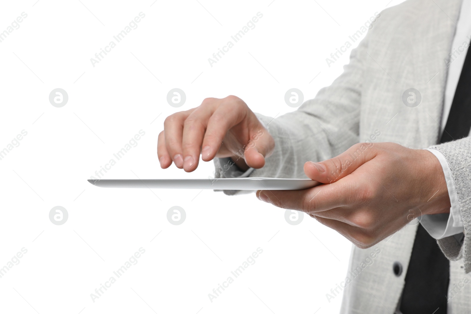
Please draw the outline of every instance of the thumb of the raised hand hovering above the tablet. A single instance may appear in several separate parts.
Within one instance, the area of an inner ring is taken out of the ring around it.
[[[275,141],[261,124],[252,129],[250,134],[250,140],[244,152],[244,160],[247,166],[259,169],[265,165],[265,158],[273,153]]]

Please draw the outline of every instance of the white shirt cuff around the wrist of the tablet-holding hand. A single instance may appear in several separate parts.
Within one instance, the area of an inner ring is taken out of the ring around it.
[[[439,240],[458,233],[463,233],[463,217],[461,216],[456,186],[451,177],[447,160],[438,150],[429,148],[427,148],[427,150],[437,157],[442,166],[451,203],[449,214],[423,215],[421,217],[421,224],[425,230],[427,230],[433,238]]]

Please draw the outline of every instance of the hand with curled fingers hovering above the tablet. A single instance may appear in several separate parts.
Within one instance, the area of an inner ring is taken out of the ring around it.
[[[191,172],[203,161],[231,157],[241,169],[261,168],[275,142],[242,99],[206,98],[196,108],[174,113],[159,134],[157,156],[162,169],[172,161]]]

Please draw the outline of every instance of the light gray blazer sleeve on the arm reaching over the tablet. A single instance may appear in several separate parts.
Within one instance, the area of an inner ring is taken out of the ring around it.
[[[257,114],[274,138],[275,150],[265,166],[253,169],[250,177],[306,178],[303,171],[306,161],[330,159],[358,143],[362,60],[367,56],[368,38],[366,35],[351,51],[349,64],[332,85],[320,89],[314,99],[305,101],[298,110],[276,119]],[[215,159],[214,164],[215,178],[234,177],[237,173],[231,169],[235,165],[229,166],[226,161]],[[222,169],[224,166],[226,169]]]

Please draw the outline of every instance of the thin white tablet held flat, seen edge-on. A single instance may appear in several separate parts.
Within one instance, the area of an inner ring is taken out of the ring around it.
[[[99,187],[207,190],[303,190],[320,183],[311,179],[221,178],[221,179],[101,179],[88,180]]]

